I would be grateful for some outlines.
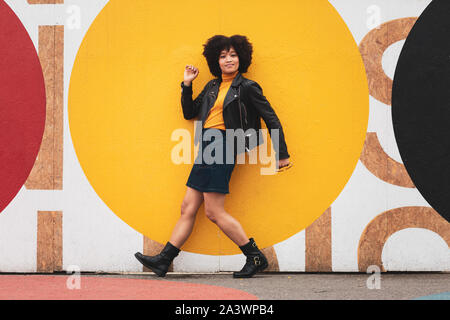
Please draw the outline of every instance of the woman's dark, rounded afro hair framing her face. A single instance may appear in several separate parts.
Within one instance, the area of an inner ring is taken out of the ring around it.
[[[208,39],[203,45],[203,55],[208,63],[209,71],[216,77],[222,77],[222,70],[219,65],[220,53],[223,50],[234,48],[239,57],[239,72],[247,72],[252,63],[253,46],[246,36],[234,35],[226,37],[223,35],[215,35]]]

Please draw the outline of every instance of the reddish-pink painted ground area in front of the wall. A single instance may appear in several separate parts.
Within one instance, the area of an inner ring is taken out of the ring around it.
[[[1,275],[0,300],[257,300],[245,291],[164,280],[80,277],[80,289],[68,289],[73,275]]]

